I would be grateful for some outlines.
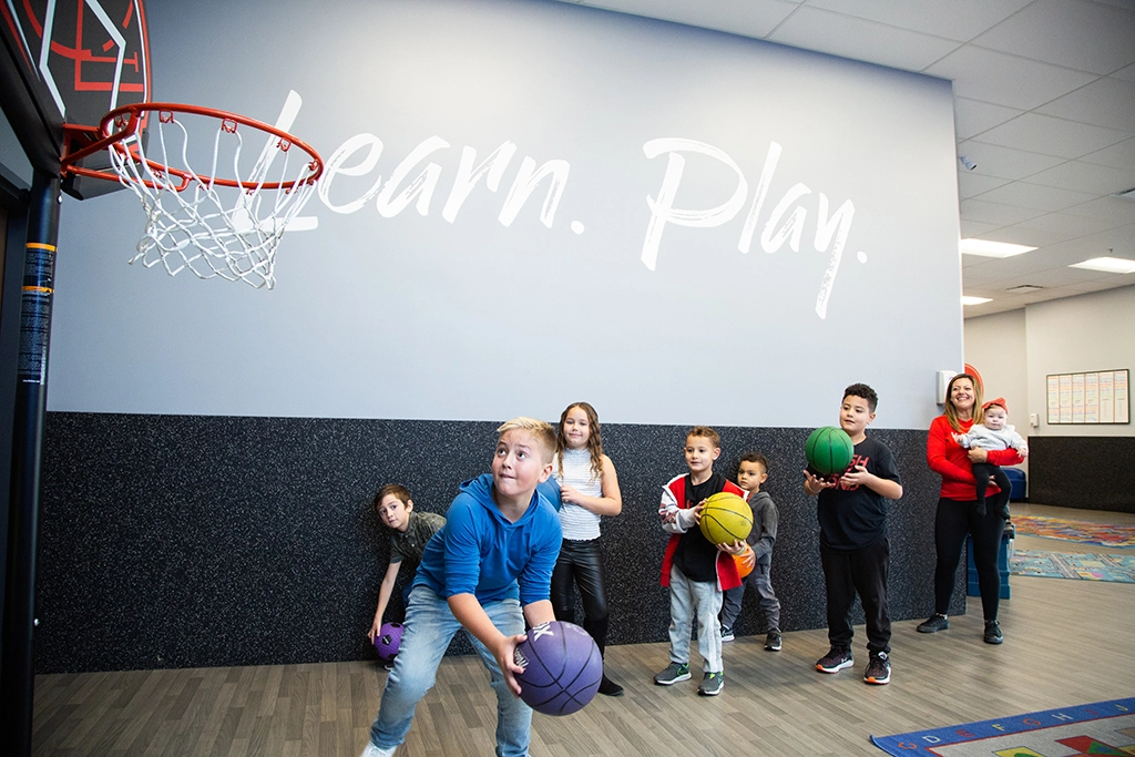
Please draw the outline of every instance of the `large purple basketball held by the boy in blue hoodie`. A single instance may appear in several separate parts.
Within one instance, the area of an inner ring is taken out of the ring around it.
[[[591,701],[603,681],[603,657],[595,639],[574,623],[552,621],[528,631],[516,647],[524,672],[520,698],[545,715],[570,715]]]

